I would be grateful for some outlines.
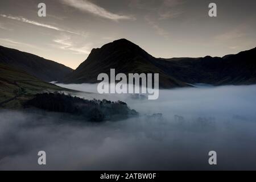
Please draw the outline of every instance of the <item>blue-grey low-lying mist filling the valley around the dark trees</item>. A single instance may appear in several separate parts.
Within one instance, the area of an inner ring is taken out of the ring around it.
[[[124,101],[140,116],[81,123],[1,110],[0,169],[256,169],[256,85],[160,90],[158,100],[59,85],[86,99]],[[208,164],[212,150],[217,166]],[[46,151],[46,166],[38,165],[38,151]]]

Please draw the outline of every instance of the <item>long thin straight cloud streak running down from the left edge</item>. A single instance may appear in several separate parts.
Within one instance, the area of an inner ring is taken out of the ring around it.
[[[17,20],[19,22],[33,24],[33,25],[39,26],[39,27],[45,27],[45,28],[49,28],[49,29],[52,29],[52,30],[56,30],[56,31],[69,32],[71,34],[79,35],[79,33],[77,33],[77,32],[73,32],[73,31],[69,31],[69,30],[64,30],[62,28],[51,26],[49,24],[35,22],[34,20],[29,20],[29,19],[23,18],[22,16],[11,16],[11,15],[5,15],[5,14],[0,14],[0,16],[2,16],[3,18],[9,18],[9,19]]]

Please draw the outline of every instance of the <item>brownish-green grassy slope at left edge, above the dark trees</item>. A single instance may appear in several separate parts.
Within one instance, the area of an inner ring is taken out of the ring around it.
[[[35,94],[65,90],[9,65],[0,64],[0,73],[0,108],[18,109]]]

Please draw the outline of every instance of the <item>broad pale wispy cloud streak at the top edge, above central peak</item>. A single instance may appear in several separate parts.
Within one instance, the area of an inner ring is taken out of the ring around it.
[[[135,19],[132,16],[126,16],[126,15],[118,15],[109,12],[108,10],[105,10],[104,8],[95,5],[92,2],[89,2],[87,0],[60,0],[65,5],[75,7],[76,9],[80,11],[84,11],[86,13],[90,13],[96,16],[100,16],[102,18],[111,19],[111,20],[122,20],[122,19]]]

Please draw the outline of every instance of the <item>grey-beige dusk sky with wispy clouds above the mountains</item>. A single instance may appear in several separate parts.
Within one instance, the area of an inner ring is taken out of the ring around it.
[[[46,17],[38,4],[46,4]],[[217,17],[208,15],[216,3]],[[256,1],[1,0],[0,45],[73,69],[125,38],[155,57],[224,56],[256,47]]]

